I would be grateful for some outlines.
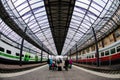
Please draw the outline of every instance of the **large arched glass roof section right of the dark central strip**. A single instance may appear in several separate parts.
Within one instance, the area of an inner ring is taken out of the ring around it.
[[[75,44],[79,46],[90,39],[93,36],[91,27],[96,31],[103,28],[104,32],[111,29],[113,26],[103,25],[108,22],[118,6],[118,0],[76,0],[62,54],[67,54],[72,47],[76,46]],[[98,33],[97,36],[102,34]]]

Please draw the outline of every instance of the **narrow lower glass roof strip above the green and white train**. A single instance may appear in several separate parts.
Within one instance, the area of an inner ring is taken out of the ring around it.
[[[16,43],[21,44],[22,38],[18,34],[16,34],[12,29],[10,29],[1,19],[0,19],[0,33],[3,33],[5,36],[12,39]],[[11,43],[11,44],[13,44],[13,43]],[[41,52],[40,49],[36,48],[35,46],[30,44],[26,40],[24,41],[24,46],[26,48],[29,48],[29,49],[34,50],[36,52],[39,52],[39,53]],[[18,47],[18,46],[16,46],[16,47]]]

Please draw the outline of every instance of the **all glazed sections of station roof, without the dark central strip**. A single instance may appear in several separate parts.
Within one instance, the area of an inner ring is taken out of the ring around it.
[[[1,1],[10,17],[20,28],[24,29],[28,27],[52,53],[57,54],[44,0]],[[108,23],[109,25],[104,25],[114,14],[118,5],[119,0],[76,0],[62,54],[66,54],[71,48],[75,47],[76,44],[80,46],[89,40],[92,37],[92,35],[88,35],[92,34],[91,27],[94,27],[96,31],[100,30],[97,37],[100,37],[104,32],[111,29],[111,25],[113,25],[112,21]],[[0,26],[0,32],[21,43],[21,37],[12,31],[1,19]],[[92,39],[93,38],[91,38],[91,40]],[[25,45],[32,46],[32,48],[34,47],[27,41],[25,41]]]

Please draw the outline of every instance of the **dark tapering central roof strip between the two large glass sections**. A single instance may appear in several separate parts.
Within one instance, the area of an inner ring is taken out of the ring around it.
[[[75,0],[44,0],[52,36],[58,55],[66,39]]]

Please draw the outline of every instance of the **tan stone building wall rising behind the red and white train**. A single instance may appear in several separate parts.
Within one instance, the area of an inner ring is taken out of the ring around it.
[[[114,32],[112,32],[111,34],[109,34],[104,39],[100,40],[98,42],[98,48],[99,49],[104,48],[118,40],[120,40],[120,27],[117,30],[115,30]],[[95,44],[93,44],[92,46],[89,46],[88,48],[86,48],[82,51],[78,51],[78,58],[79,58],[79,55],[90,53],[92,51],[95,51]],[[76,59],[76,53],[72,54],[71,58]]]

